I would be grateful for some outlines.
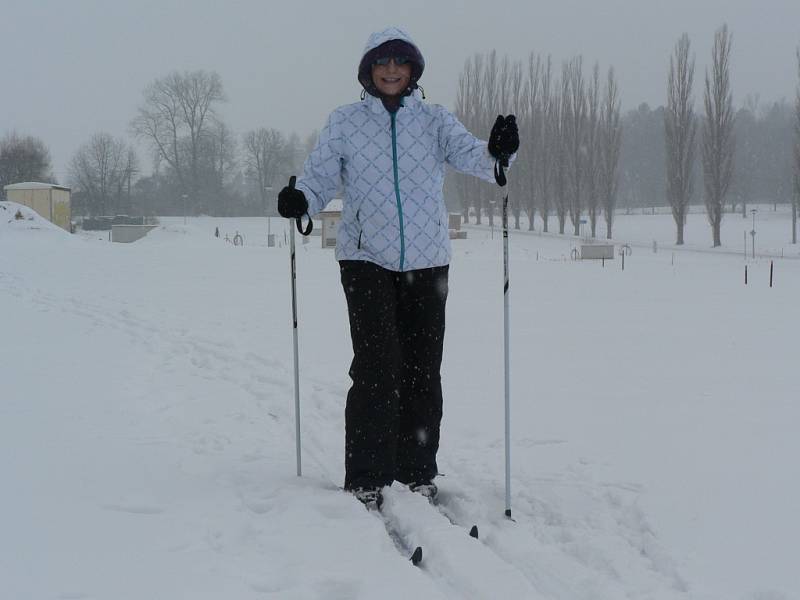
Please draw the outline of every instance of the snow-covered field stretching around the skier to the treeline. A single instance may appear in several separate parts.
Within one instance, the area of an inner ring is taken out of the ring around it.
[[[800,598],[800,260],[761,208],[772,288],[750,217],[712,251],[692,214],[677,251],[669,215],[620,215],[624,271],[512,231],[513,523],[501,238],[453,242],[446,516],[386,491],[417,568],[339,490],[350,341],[319,237],[298,240],[297,478],[282,220],[274,248],[264,219],[111,244],[0,203],[0,598]]]

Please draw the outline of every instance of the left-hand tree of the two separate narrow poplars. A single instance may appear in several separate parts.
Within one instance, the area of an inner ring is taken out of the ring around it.
[[[689,55],[690,41],[683,34],[669,59],[667,107],[664,111],[664,134],[667,156],[667,200],[677,228],[677,245],[683,245],[686,213],[692,197],[697,120],[694,115],[692,85],[694,56]]]

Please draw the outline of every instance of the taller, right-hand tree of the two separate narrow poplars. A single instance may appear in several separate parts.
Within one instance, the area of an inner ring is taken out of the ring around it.
[[[733,94],[730,85],[731,35],[723,25],[714,35],[711,73],[706,70],[703,126],[705,204],[714,247],[721,246],[720,229],[725,194],[733,174]]]

